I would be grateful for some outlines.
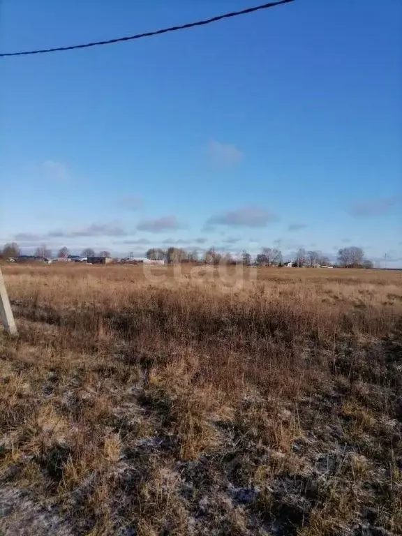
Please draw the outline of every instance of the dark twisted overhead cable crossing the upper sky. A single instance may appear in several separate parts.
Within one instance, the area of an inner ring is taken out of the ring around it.
[[[141,39],[143,37],[152,37],[159,36],[161,34],[168,34],[171,31],[186,30],[188,28],[194,28],[196,26],[205,26],[206,24],[211,24],[211,22],[218,22],[219,20],[229,19],[230,17],[237,17],[239,15],[246,15],[247,13],[254,13],[255,11],[260,11],[262,9],[274,8],[275,6],[280,6],[282,3],[289,3],[294,0],[280,0],[278,2],[269,2],[263,3],[261,6],[255,6],[253,8],[243,9],[241,11],[232,11],[232,13],[225,13],[225,15],[217,15],[210,19],[199,20],[198,22],[188,22],[188,24],[182,24],[181,26],[172,26],[170,28],[163,28],[156,31],[147,31],[144,34],[135,34],[134,36],[118,37],[116,39],[108,39],[105,41],[94,41],[93,43],[84,43],[82,45],[70,45],[68,47],[53,47],[53,48],[43,48],[40,50],[24,50],[21,52],[3,52],[0,53],[0,57],[7,56],[28,56],[30,54],[47,54],[47,52],[61,52],[63,50],[75,50],[77,48],[89,48],[97,47],[101,45],[111,45],[112,43],[121,43],[122,41],[132,41],[134,39]]]

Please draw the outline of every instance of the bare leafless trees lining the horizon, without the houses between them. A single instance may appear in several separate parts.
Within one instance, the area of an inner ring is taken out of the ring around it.
[[[11,242],[3,247],[0,251],[3,259],[15,258],[21,255],[18,244]],[[66,247],[60,248],[57,257],[68,258],[70,250]],[[51,258],[52,251],[46,246],[38,246],[35,256],[40,258]],[[82,257],[94,257],[95,251],[92,248],[85,248]],[[109,251],[98,253],[100,257],[109,257]],[[208,251],[200,254],[198,250],[187,251],[183,248],[170,247],[168,249],[150,248],[147,251],[147,258],[150,260],[164,260],[168,263],[179,262],[205,262],[210,265],[218,265],[221,262],[235,264],[241,262],[243,265],[259,266],[281,266],[283,265],[283,255],[278,248],[262,248],[260,253],[253,260],[250,253],[243,251],[240,259],[234,259],[230,253],[219,253],[215,248],[209,248]],[[315,267],[331,265],[329,258],[322,255],[320,251],[306,251],[300,248],[293,256],[292,263],[297,267]],[[338,251],[337,266],[345,268],[373,268],[373,263],[364,257],[364,251],[357,246],[342,248]]]

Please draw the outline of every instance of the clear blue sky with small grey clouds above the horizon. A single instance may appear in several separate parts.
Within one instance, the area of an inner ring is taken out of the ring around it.
[[[3,0],[0,50],[258,0]],[[144,253],[363,246],[402,266],[399,0],[295,0],[175,34],[0,59],[0,242]]]

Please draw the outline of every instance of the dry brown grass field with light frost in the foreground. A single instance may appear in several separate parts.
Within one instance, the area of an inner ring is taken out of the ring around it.
[[[401,534],[402,272],[152,273],[3,267],[0,535]]]

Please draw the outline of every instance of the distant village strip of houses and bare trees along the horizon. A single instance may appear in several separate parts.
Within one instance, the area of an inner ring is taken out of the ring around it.
[[[207,251],[188,251],[184,248],[170,247],[167,249],[150,248],[143,257],[137,257],[129,253],[124,258],[112,257],[109,251],[101,251],[98,254],[92,248],[85,248],[81,255],[72,255],[68,248],[60,248],[57,255],[46,246],[36,248],[34,255],[23,255],[20,247],[13,243],[6,244],[0,250],[1,258],[6,262],[27,263],[41,262],[45,264],[77,262],[87,265],[109,264],[207,264],[207,265],[246,265],[267,267],[309,267],[309,268],[366,268],[372,269],[373,262],[364,257],[364,251],[357,246],[341,248],[338,251],[337,262],[331,262],[320,251],[306,251],[299,248],[292,258],[284,260],[282,252],[278,248],[262,248],[257,255],[251,255],[247,251],[232,255],[231,253],[219,253],[215,248]]]

